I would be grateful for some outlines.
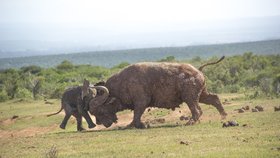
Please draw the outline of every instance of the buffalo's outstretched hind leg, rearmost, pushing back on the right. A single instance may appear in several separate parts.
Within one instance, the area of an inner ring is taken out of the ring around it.
[[[222,119],[225,119],[227,113],[224,110],[224,107],[216,94],[208,93],[206,89],[204,89],[199,98],[200,103],[213,105],[220,113]]]

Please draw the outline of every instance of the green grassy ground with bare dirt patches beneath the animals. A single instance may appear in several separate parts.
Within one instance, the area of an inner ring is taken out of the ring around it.
[[[0,157],[280,157],[280,99],[246,100],[240,94],[223,94],[227,120],[239,126],[222,128],[216,109],[201,104],[201,121],[186,126],[180,116],[190,115],[186,105],[175,111],[151,109],[143,122],[147,129],[122,129],[132,119],[131,111],[118,113],[119,123],[105,129],[97,126],[76,132],[72,118],[66,130],[58,128],[64,114],[46,117],[60,108],[59,100],[13,100],[0,104]],[[235,109],[250,106],[249,111]],[[252,113],[256,105],[263,112]],[[94,117],[93,117],[94,119]],[[163,120],[163,121],[159,121]],[[87,124],[84,122],[84,126]]]

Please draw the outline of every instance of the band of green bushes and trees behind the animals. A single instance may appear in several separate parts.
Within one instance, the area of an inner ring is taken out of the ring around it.
[[[177,61],[167,56],[157,62],[191,63],[198,67],[218,57]],[[203,70],[207,88],[214,93],[244,93],[248,98],[279,97],[280,55],[256,55],[251,52],[226,57],[221,63]],[[31,65],[0,71],[0,101],[10,99],[60,98],[67,87],[80,85],[84,78],[92,83],[106,81],[129,63],[112,68],[74,65],[65,60],[52,68]]]

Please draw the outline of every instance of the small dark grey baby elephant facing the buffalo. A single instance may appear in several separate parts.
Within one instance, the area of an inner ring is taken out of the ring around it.
[[[60,128],[65,129],[67,121],[73,115],[77,120],[77,130],[85,130],[82,127],[82,116],[88,123],[88,128],[94,128],[96,125],[92,122],[87,110],[89,101],[94,97],[93,91],[90,89],[89,81],[84,80],[83,86],[68,88],[62,95],[61,109],[52,116],[60,113],[62,109],[65,111],[65,117],[60,124]]]

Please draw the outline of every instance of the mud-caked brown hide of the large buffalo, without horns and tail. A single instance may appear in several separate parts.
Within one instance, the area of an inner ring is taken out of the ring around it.
[[[134,64],[110,77],[104,86],[109,97],[102,104],[91,102],[89,111],[95,115],[97,124],[106,127],[116,121],[118,111],[132,109],[131,126],[143,128],[141,116],[147,107],[175,109],[183,102],[187,103],[194,121],[202,114],[199,102],[215,106],[226,116],[218,96],[207,92],[202,72],[190,64]]]

